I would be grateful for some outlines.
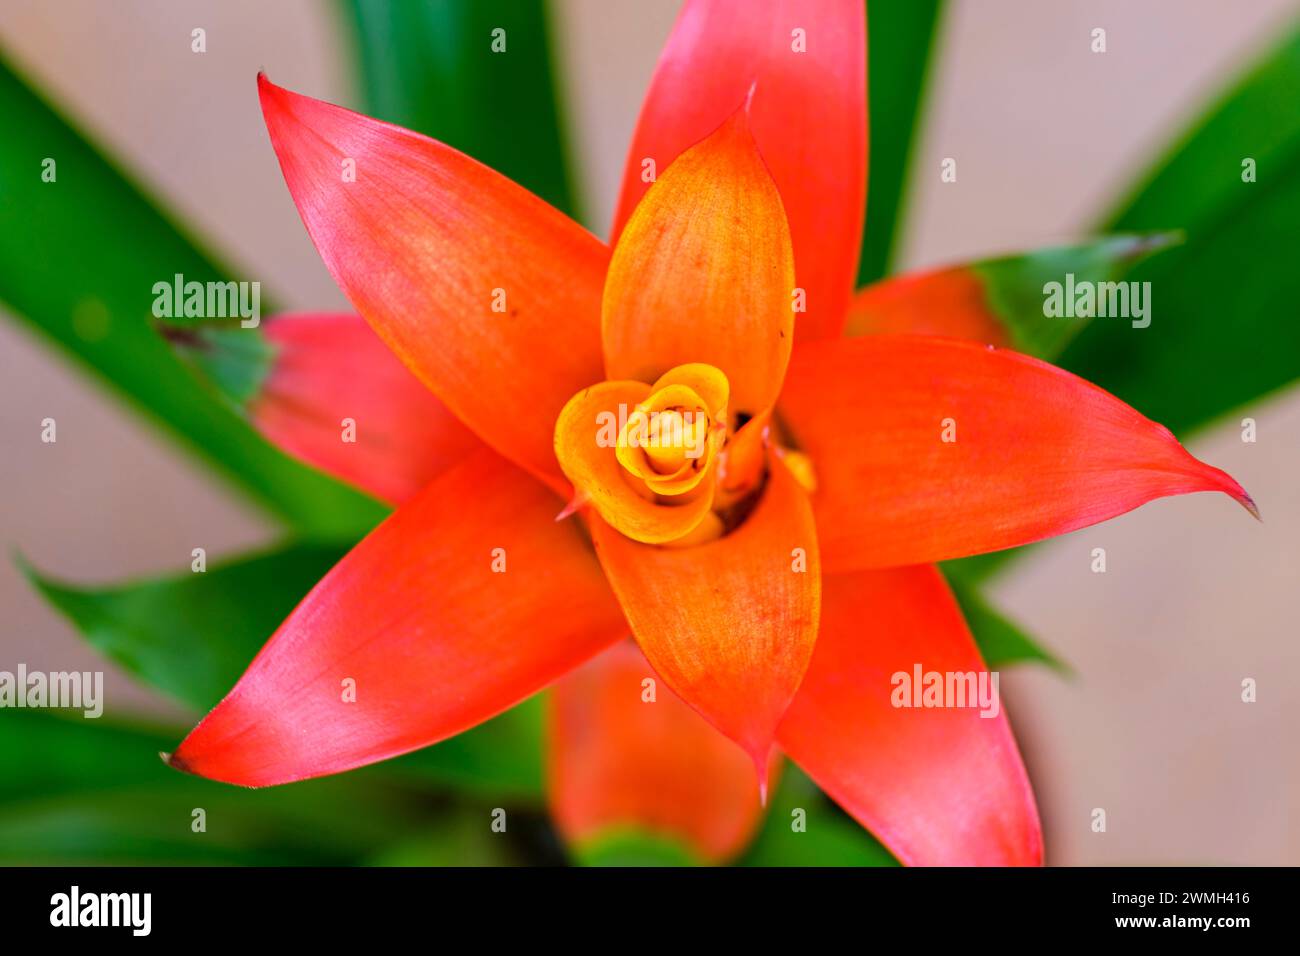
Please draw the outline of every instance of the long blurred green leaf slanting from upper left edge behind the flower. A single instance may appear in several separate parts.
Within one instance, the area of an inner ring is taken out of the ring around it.
[[[0,60],[0,303],[294,527],[359,535],[373,499],[268,445],[153,329],[153,285],[233,277]],[[55,179],[43,181],[46,160]],[[244,274],[244,281],[257,281]]]

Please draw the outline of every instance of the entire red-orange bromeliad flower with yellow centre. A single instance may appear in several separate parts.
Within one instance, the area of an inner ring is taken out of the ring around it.
[[[952,281],[850,302],[863,51],[855,0],[688,3],[612,251],[447,146],[259,78],[308,233],[378,338],[273,320],[252,414],[398,509],[174,766],[337,773],[575,671],[551,721],[571,836],[641,822],[724,858],[780,749],[904,862],[1041,861],[1001,710],[893,706],[897,672],[984,670],[935,562],[1161,496],[1253,505],[1101,389],[958,338],[983,337],[978,295],[842,334]]]

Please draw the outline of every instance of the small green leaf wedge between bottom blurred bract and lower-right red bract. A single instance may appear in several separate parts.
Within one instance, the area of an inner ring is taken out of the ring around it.
[[[786,763],[763,829],[740,865],[897,866],[898,861],[831,803],[807,774]]]

